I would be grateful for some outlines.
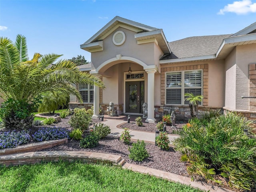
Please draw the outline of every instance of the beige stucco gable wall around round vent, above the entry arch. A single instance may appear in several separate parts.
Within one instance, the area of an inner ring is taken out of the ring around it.
[[[124,44],[120,46],[114,45],[112,42],[113,34],[119,30],[122,30],[126,35],[126,40]],[[136,58],[146,65],[154,64],[154,42],[146,43],[146,44],[137,44],[137,40],[134,38],[133,31],[118,28],[109,36],[107,36],[103,40],[103,51],[92,52],[92,63],[95,68],[98,68],[100,64],[106,62],[111,58],[115,58],[116,55],[121,54],[122,56],[128,56],[132,58]]]

